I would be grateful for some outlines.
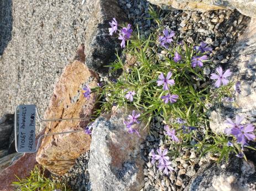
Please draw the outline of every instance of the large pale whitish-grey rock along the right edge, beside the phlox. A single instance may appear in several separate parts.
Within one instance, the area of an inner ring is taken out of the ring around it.
[[[241,93],[234,94],[234,102],[223,103],[212,108],[210,127],[215,133],[223,133],[227,127],[226,118],[234,118],[236,114],[244,116],[247,121],[256,122],[256,19],[252,19],[244,35],[233,47],[232,56],[227,64],[233,72],[232,79],[241,82]]]

